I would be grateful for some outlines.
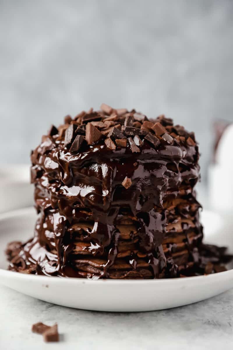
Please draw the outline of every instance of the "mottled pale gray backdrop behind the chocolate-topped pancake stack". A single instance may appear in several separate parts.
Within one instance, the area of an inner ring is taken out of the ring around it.
[[[51,123],[102,102],[195,131],[232,119],[233,2],[0,0],[0,163],[29,162]]]

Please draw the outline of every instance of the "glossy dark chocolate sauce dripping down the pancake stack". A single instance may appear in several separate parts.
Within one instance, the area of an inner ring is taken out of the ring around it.
[[[185,134],[187,140],[191,134],[186,131]],[[195,142],[188,145],[185,138],[173,138],[170,143],[169,139],[159,137],[160,144],[153,147],[144,136],[138,153],[132,153],[129,142],[125,148],[110,149],[103,138],[93,145],[83,144],[75,155],[70,153],[64,135],[55,131],[54,135],[43,136],[41,145],[31,154],[31,182],[35,184],[35,207],[39,214],[35,235],[22,245],[10,269],[22,270],[20,257],[29,273],[83,277],[78,263],[71,258],[76,239],[72,227],[89,223],[91,226],[86,230],[89,243],[82,253],[94,260],[104,257],[105,262],[100,264],[98,273],[86,277],[111,278],[110,271],[115,269],[120,255],[118,223],[126,215],[136,227],[137,249],[152,277],[203,273],[207,261],[218,254],[217,250],[206,253],[209,257],[206,261],[200,254],[201,249],[205,252],[206,249],[202,245],[200,205],[194,191],[199,180],[198,146]],[[122,186],[125,177],[132,181],[128,189]],[[168,209],[168,203],[175,200],[174,208]],[[195,208],[191,220],[190,208]],[[182,233],[175,225],[177,217],[183,219]],[[191,269],[186,260],[182,264],[179,257],[176,264],[173,259],[182,234],[180,245],[185,245]],[[126,260],[137,271],[140,264],[135,253]]]

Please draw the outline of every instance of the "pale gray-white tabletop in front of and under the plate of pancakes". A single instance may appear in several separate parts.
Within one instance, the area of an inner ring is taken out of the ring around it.
[[[233,289],[179,308],[106,313],[65,308],[0,287],[0,349],[232,350]],[[94,293],[93,293],[94,297]],[[46,344],[32,323],[58,323],[60,343]]]

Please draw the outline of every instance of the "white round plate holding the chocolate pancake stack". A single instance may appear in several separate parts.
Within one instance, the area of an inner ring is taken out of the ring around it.
[[[6,244],[31,237],[35,219],[32,208],[0,216],[0,283],[32,297],[87,310],[149,311],[194,303],[233,287],[233,270],[180,279],[97,281],[6,271],[3,252]],[[220,227],[222,234],[221,219],[215,214],[204,212],[202,221],[207,237],[217,236]],[[227,235],[222,236],[221,244],[233,252],[232,240]]]

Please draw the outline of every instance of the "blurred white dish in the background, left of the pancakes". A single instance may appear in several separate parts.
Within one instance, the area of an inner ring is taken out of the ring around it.
[[[1,165],[0,212],[33,205],[33,191],[34,186],[30,184],[30,165]]]

